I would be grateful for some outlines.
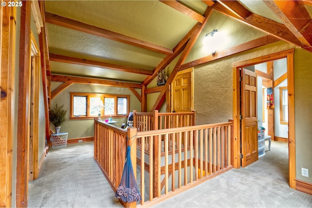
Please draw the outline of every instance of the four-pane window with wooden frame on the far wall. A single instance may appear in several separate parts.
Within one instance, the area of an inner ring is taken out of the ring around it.
[[[130,95],[70,93],[70,119],[101,116],[127,117]],[[100,107],[103,102],[103,107]]]

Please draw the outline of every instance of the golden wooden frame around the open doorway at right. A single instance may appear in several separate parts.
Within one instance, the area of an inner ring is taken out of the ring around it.
[[[268,62],[275,59],[287,58],[287,85],[288,85],[288,108],[289,108],[289,186],[295,189],[296,182],[296,158],[295,158],[295,123],[294,123],[294,77],[293,77],[293,53],[294,49],[289,49],[270,55],[256,57],[249,60],[234,63],[233,67],[233,119],[234,119],[234,168],[240,168],[240,144],[239,144],[239,68]]]

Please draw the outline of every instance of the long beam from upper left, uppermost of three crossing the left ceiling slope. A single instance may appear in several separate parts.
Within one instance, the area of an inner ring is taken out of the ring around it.
[[[155,51],[162,54],[173,54],[171,49],[158,46],[149,42],[145,42],[143,40],[139,40],[136,38],[131,38],[128,36],[124,36],[109,30],[105,30],[93,25],[85,24],[83,22],[79,22],[73,19],[68,19],[64,17],[60,17],[58,15],[54,15],[48,12],[45,12],[45,20],[50,24],[55,24],[61,27],[66,27],[72,30],[77,30],[83,33],[88,33],[94,36],[98,36],[101,38],[107,38],[111,40],[115,40],[118,42],[126,43],[129,45],[134,45],[140,48],[144,48],[147,50]]]

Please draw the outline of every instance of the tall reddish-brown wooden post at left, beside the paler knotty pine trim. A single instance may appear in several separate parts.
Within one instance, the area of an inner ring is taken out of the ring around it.
[[[31,1],[23,0],[20,8],[20,62],[17,115],[17,165],[16,165],[16,207],[27,207],[28,172],[27,150],[29,136],[29,94],[30,94],[30,23]]]

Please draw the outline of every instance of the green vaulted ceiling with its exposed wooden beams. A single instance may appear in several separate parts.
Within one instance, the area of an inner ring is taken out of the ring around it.
[[[52,81],[141,88],[176,57],[185,64],[214,22],[239,35],[220,16],[312,52],[311,0],[46,0],[44,7]]]

